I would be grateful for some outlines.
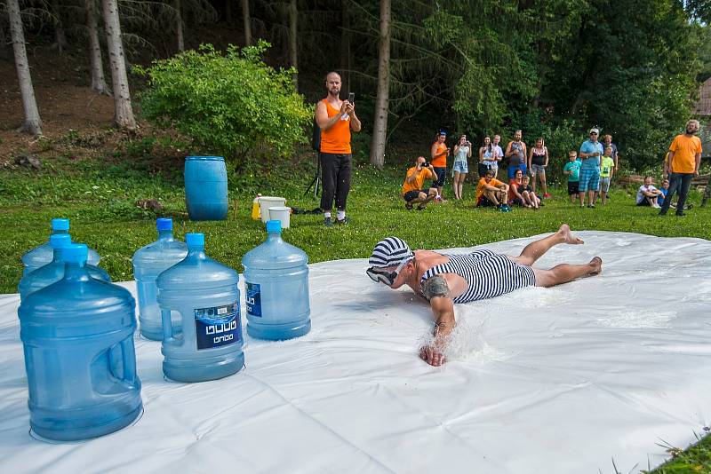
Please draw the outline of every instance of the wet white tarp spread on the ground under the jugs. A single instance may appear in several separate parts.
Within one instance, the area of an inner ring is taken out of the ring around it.
[[[711,423],[711,242],[577,233],[536,266],[603,273],[455,306],[451,362],[418,347],[429,306],[373,283],[366,261],[310,265],[307,336],[246,336],[246,368],[164,380],[160,344],[136,338],[145,413],[104,438],[28,434],[17,295],[0,296],[4,472],[638,472]],[[487,249],[518,255],[533,238]],[[455,251],[464,251],[456,249]],[[125,284],[134,290],[132,283]],[[244,295],[244,292],[243,292]],[[244,314],[244,305],[243,305]],[[138,331],[137,331],[138,334]]]

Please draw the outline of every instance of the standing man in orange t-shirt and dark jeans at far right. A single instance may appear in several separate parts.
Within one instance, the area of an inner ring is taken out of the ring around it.
[[[676,203],[676,215],[684,216],[683,205],[689,194],[691,178],[699,176],[701,164],[701,140],[696,137],[699,131],[699,121],[686,122],[683,135],[677,135],[669,146],[669,191],[659,210],[659,216],[664,216],[672,203],[672,197],[678,191],[679,201]]]

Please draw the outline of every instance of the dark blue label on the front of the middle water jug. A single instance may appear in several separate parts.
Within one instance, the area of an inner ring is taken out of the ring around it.
[[[198,351],[241,341],[239,302],[196,309],[195,332]]]

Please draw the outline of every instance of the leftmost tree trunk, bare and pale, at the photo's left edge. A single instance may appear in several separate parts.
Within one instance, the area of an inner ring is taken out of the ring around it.
[[[25,33],[22,31],[20,5],[18,0],[6,0],[8,18],[10,19],[10,35],[12,49],[15,51],[15,66],[20,82],[22,107],[25,109],[25,124],[20,128],[32,135],[42,135],[42,120],[35,100],[35,89],[32,87],[32,77],[29,75],[28,51],[25,49]]]

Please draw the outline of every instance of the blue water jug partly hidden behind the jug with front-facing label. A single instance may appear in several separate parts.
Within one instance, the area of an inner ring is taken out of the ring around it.
[[[163,339],[163,322],[161,310],[156,296],[158,275],[177,264],[188,255],[188,247],[172,237],[172,219],[156,220],[158,240],[146,247],[136,250],[133,254],[133,277],[139,294],[139,322],[141,336],[161,341]],[[180,333],[180,314],[173,312],[172,328]]]

